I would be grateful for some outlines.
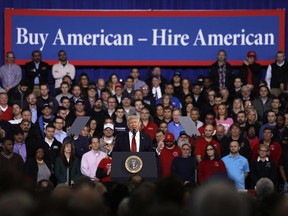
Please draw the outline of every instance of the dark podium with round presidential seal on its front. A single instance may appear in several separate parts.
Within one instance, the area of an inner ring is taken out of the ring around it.
[[[156,153],[113,152],[110,174],[112,180],[128,182],[134,174],[141,175],[148,181],[157,180]]]

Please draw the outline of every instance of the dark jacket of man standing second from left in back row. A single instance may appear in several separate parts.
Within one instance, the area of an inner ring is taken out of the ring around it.
[[[40,61],[39,68],[37,70],[34,61],[26,63],[26,78],[28,82],[28,87],[31,91],[33,91],[34,88],[34,79],[36,75],[39,76],[40,84],[48,83],[48,67],[49,65],[46,62]]]

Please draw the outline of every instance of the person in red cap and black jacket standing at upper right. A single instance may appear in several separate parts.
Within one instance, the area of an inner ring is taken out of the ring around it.
[[[239,70],[239,77],[243,85],[249,84],[251,87],[257,88],[260,82],[261,65],[256,63],[256,52],[249,51],[246,59]],[[255,89],[257,91],[257,89]]]

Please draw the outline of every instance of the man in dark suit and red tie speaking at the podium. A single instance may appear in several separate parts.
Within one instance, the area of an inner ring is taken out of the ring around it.
[[[116,137],[114,147],[105,145],[110,154],[112,151],[117,152],[149,152],[154,151],[152,147],[152,140],[149,135],[140,132],[141,120],[136,115],[131,115],[127,120],[129,132],[119,134]],[[133,141],[135,140],[135,141]],[[160,153],[163,146],[158,145],[156,148],[157,154]]]

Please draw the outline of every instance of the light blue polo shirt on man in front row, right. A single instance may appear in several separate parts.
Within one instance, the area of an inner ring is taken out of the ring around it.
[[[245,189],[245,173],[250,172],[248,160],[240,154],[233,158],[231,154],[222,158],[229,178],[238,189]]]

